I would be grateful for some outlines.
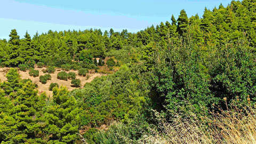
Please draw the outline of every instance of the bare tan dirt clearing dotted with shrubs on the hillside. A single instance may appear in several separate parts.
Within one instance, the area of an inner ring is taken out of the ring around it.
[[[10,68],[0,68],[0,82],[2,81],[7,81],[6,73],[9,71]],[[39,76],[45,75],[46,73],[43,73],[43,69],[46,68],[35,68],[35,70],[39,70]],[[31,79],[34,83],[36,83],[38,85],[38,94],[41,94],[43,92],[45,92],[49,97],[52,96],[52,91],[49,91],[49,86],[51,83],[58,83],[60,86],[67,86],[68,90],[74,90],[74,89],[79,89],[79,87],[72,87],[71,86],[71,79],[68,79],[68,81],[65,80],[60,80],[57,79],[57,74],[60,71],[64,71],[61,70],[60,68],[55,68],[55,73],[50,74],[52,79],[48,80],[46,84],[42,84],[41,82],[39,82],[39,76],[38,77],[33,77],[33,76],[29,76],[29,70],[27,71],[21,71],[19,70],[19,74],[21,75],[22,79]],[[83,77],[83,76],[79,76],[78,75],[78,71],[77,70],[69,70],[66,71],[67,73],[69,72],[74,72],[76,73],[76,78],[81,80],[81,88],[84,86],[85,83],[90,83],[95,77],[101,77],[103,74],[99,74],[99,73],[89,73],[87,75],[89,75],[89,78],[87,79],[87,76]]]

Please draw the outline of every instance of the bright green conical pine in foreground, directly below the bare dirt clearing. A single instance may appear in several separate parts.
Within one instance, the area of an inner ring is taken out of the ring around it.
[[[46,133],[52,135],[50,143],[75,143],[81,124],[79,110],[74,97],[70,97],[66,87],[53,88],[53,102],[45,113]]]

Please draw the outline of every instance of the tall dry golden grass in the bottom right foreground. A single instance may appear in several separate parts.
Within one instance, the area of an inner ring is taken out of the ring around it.
[[[222,113],[212,113],[212,117],[194,120],[177,115],[168,123],[155,111],[161,131],[150,129],[139,143],[256,143],[255,109],[228,109]]]

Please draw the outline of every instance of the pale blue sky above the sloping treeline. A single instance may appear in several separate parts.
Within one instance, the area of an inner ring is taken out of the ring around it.
[[[188,17],[198,13],[202,17],[204,8],[212,10],[231,0],[0,0],[0,39],[9,39],[11,29],[17,29],[23,37],[26,31],[33,36],[48,30],[84,30],[113,28],[137,32],[161,21],[178,18],[182,9]]]

